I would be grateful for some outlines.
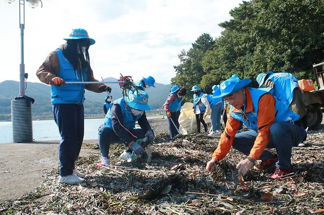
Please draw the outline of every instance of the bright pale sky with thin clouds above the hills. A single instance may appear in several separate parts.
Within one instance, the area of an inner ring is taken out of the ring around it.
[[[97,80],[134,80],[151,75],[159,83],[175,76],[178,54],[202,33],[221,35],[219,23],[242,0],[43,0],[43,8],[25,9],[25,70],[28,81],[46,56],[63,44],[72,28],[85,28],[96,40],[91,66]],[[0,82],[19,81],[19,0],[0,0],[2,52]]]

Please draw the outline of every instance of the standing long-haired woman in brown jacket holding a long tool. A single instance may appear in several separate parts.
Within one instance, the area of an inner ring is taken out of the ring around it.
[[[60,183],[78,184],[85,176],[75,170],[84,134],[85,89],[93,92],[111,92],[104,84],[68,85],[65,81],[97,81],[90,67],[89,47],[95,40],[88,32],[75,28],[66,43],[51,52],[36,72],[40,81],[51,85],[53,116],[59,127]]]

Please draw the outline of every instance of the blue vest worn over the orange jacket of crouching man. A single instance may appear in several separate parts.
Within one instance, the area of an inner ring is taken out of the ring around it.
[[[255,132],[258,132],[258,104],[259,99],[262,95],[265,93],[269,93],[271,88],[248,88],[250,90],[252,103],[253,103],[253,110],[246,113],[245,108],[246,105],[242,107],[243,113],[241,112],[233,112],[233,107],[230,106],[230,115],[245,124],[245,126],[249,129],[254,130]],[[281,100],[275,99],[275,122],[287,122],[292,121],[295,122],[299,119],[299,115],[296,113],[293,113],[291,110],[288,109],[288,106],[284,104]],[[243,119],[243,115],[246,115],[247,119]]]

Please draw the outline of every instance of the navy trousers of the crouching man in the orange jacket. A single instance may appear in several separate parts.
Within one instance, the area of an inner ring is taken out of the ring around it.
[[[258,133],[255,131],[241,132],[235,135],[233,148],[249,155],[254,145]],[[290,122],[275,122],[270,127],[270,140],[266,148],[276,148],[278,162],[276,166],[280,169],[290,169],[292,167],[292,147],[297,146],[306,138],[303,127],[294,125]],[[265,161],[273,158],[269,151],[264,151],[259,160]]]

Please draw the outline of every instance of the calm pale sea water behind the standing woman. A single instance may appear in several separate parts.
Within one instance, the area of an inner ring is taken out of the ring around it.
[[[148,119],[160,118],[157,116],[148,116]],[[84,121],[84,139],[97,139],[98,128],[103,123],[101,119],[85,119]],[[59,129],[54,120],[35,120],[32,121],[32,134],[35,141],[60,140]],[[0,143],[12,142],[12,124],[11,122],[0,122]]]

